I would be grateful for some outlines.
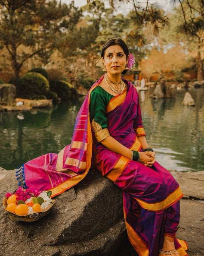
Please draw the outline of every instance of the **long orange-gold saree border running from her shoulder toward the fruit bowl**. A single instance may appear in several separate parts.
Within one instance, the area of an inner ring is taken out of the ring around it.
[[[90,93],[98,85],[99,85],[99,83],[97,83],[95,86],[92,87],[92,89],[90,89],[88,105],[90,104]],[[83,174],[79,174],[79,175],[73,176],[70,179],[65,180],[65,182],[59,184],[58,186],[53,187],[52,189],[50,189],[49,191],[52,192],[52,195],[51,195],[52,198],[54,196],[62,194],[66,190],[70,189],[72,186],[74,186],[77,183],[79,183],[80,180],[83,180],[83,178],[86,177],[86,175],[87,175],[87,173],[88,173],[88,171],[89,171],[89,169],[91,167],[92,143],[93,143],[93,140],[92,140],[92,132],[91,132],[91,124],[90,124],[89,114],[88,114],[87,136],[88,136],[88,138],[87,138],[87,161],[86,161],[87,165],[86,165],[86,170],[83,172]]]

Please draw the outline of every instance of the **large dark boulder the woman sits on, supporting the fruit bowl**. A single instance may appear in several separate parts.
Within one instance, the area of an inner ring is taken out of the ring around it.
[[[14,171],[4,171],[0,195],[17,188]],[[114,255],[127,242],[121,190],[92,172],[74,189],[56,196],[49,215],[34,222],[13,221],[0,206],[3,256]]]

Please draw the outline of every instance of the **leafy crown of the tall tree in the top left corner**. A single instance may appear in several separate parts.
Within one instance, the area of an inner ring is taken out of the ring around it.
[[[74,30],[80,10],[56,0],[0,0],[0,46],[6,47],[15,77],[26,60],[49,60],[53,48]],[[22,46],[27,51],[20,53]]]

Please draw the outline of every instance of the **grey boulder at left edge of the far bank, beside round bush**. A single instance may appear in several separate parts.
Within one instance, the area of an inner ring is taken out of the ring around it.
[[[11,84],[0,84],[0,104],[12,105],[15,103],[16,88]]]

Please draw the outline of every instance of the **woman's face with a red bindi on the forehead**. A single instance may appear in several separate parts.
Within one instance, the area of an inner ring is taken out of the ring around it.
[[[123,49],[117,44],[109,46],[105,50],[103,63],[109,74],[117,75],[122,73],[127,63]]]

